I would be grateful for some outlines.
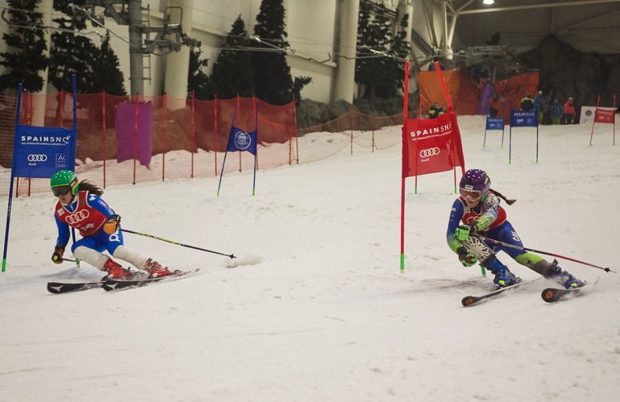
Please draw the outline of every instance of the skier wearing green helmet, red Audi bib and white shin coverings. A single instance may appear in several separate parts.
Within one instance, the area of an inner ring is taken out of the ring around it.
[[[164,268],[146,255],[125,246],[121,232],[121,217],[101,198],[103,190],[87,180],[78,182],[75,173],[61,170],[54,173],[50,182],[52,193],[58,198],[54,218],[58,226],[58,238],[52,254],[56,264],[63,262],[65,247],[70,239],[70,228],[78,229],[82,238],[71,247],[79,260],[105,271],[107,278],[135,277],[136,272],[123,268],[110,255],[147,271],[149,277],[169,275]]]

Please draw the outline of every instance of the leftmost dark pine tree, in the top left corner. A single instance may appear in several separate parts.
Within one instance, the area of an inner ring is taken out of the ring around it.
[[[43,78],[39,72],[48,67],[45,56],[47,44],[43,38],[43,14],[34,12],[41,0],[8,0],[10,32],[3,34],[9,46],[0,53],[0,65],[7,72],[0,75],[0,91],[17,89],[21,83],[28,92],[43,89]]]

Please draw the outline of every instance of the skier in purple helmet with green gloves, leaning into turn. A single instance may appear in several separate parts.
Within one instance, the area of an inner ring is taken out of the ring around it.
[[[485,171],[466,171],[459,183],[459,189],[459,198],[452,204],[446,237],[448,246],[457,253],[464,266],[473,266],[479,262],[495,275],[495,287],[510,286],[519,279],[497,258],[496,254],[504,251],[519,264],[544,277],[555,279],[567,289],[584,285],[582,281],[563,271],[557,260],[550,263],[524,250],[517,231],[506,220],[506,211],[499,204],[500,199],[508,205],[515,200],[507,200],[501,193],[490,189],[490,178]],[[489,242],[486,238],[513,247]]]

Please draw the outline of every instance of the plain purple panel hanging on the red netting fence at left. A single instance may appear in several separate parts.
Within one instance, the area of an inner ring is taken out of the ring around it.
[[[120,163],[135,158],[141,165],[149,167],[152,127],[152,103],[121,103],[116,106],[116,160]]]

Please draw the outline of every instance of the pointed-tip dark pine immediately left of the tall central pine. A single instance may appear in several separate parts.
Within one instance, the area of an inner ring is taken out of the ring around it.
[[[223,43],[224,49],[218,54],[218,61],[213,65],[211,80],[218,98],[254,96],[254,74],[250,52],[236,50],[253,45],[249,43],[245,22],[238,16]]]

